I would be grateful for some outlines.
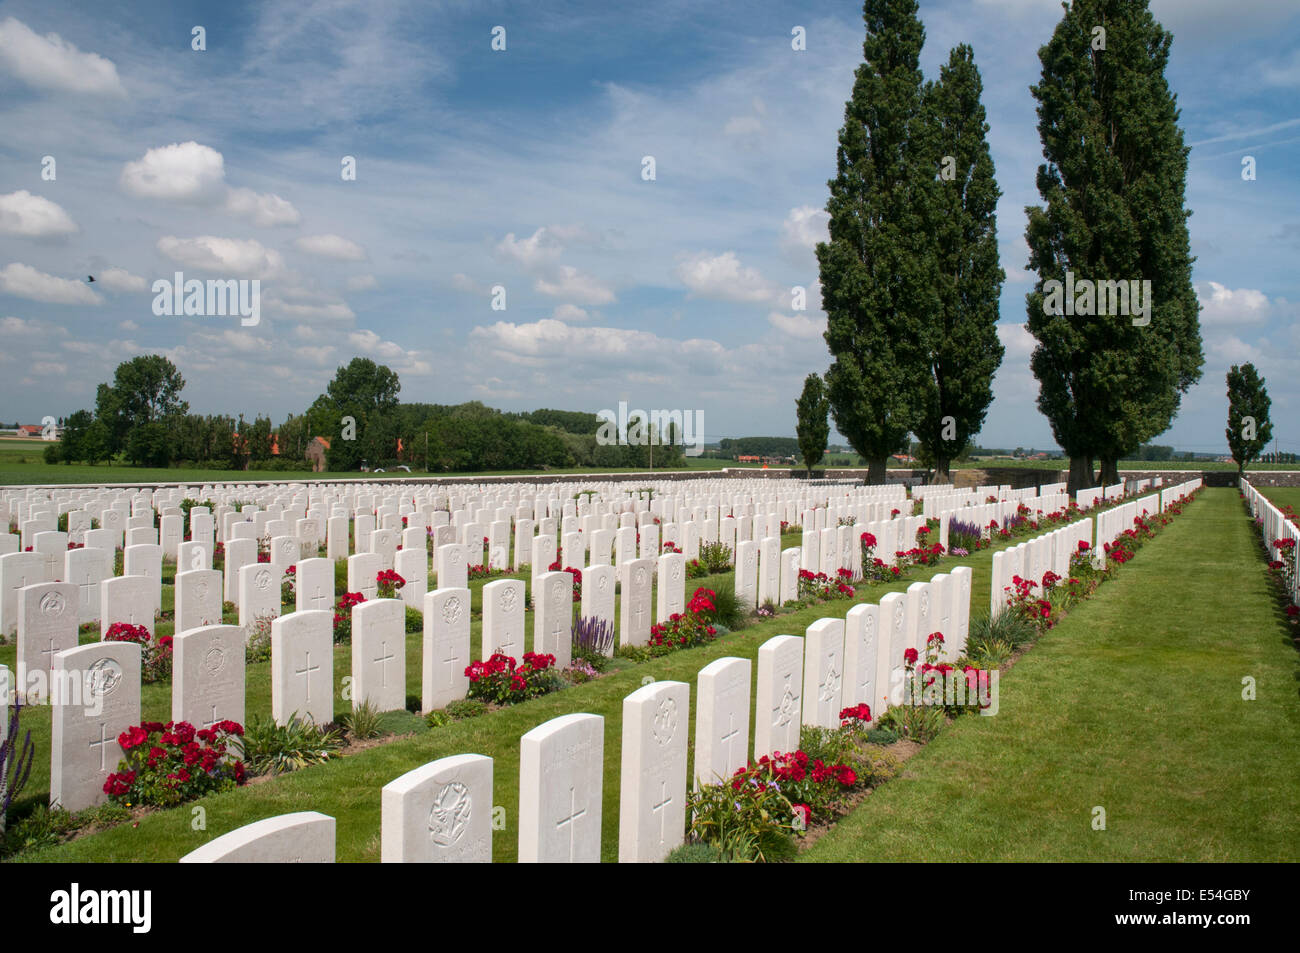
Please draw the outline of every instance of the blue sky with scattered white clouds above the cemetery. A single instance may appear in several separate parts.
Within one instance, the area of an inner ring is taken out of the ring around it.
[[[1300,449],[1300,4],[1150,8],[1193,147],[1206,354],[1158,442],[1226,450],[1223,374],[1249,360]],[[1060,13],[922,0],[927,78],[975,49],[1004,192],[989,446],[1053,443],[1022,328],[1023,208],[1041,161],[1028,86]],[[160,352],[191,410],[278,423],[364,355],[407,400],[628,400],[702,410],[710,439],[793,434],[803,377],[829,363],[811,248],[862,39],[858,3],[3,3],[0,419],[91,407],[117,363]],[[260,278],[261,322],[155,316],[152,282],[176,270]]]

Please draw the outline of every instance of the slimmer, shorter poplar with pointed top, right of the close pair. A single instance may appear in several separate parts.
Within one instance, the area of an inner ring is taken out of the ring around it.
[[[997,199],[983,83],[974,51],[952,51],[939,81],[924,92],[922,137],[931,157],[932,213],[939,307],[923,325],[927,359],[913,433],[935,480],[979,433],[993,400],[993,374],[1002,363],[997,337],[998,296],[1005,277],[997,261]]]

